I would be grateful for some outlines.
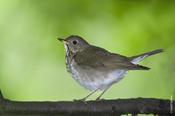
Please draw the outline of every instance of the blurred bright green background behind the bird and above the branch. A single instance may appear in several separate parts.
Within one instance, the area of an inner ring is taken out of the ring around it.
[[[105,99],[175,98],[175,2],[0,0],[0,89],[12,100],[73,100],[89,92],[67,73],[57,37],[79,35],[126,56],[163,48]],[[94,99],[99,93],[90,99]]]

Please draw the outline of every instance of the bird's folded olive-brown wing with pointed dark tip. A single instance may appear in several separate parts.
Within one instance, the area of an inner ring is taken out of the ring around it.
[[[75,62],[81,67],[91,67],[104,70],[148,70],[149,68],[135,65],[122,55],[110,53],[107,50],[91,46],[74,57]]]

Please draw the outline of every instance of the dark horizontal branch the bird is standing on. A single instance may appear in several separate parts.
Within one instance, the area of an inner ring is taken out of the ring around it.
[[[5,99],[0,93],[0,116],[116,116],[117,114],[175,115],[175,101],[154,98],[132,98],[87,102],[20,102]]]

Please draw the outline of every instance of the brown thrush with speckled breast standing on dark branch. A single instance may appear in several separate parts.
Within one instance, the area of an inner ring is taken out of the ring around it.
[[[65,39],[58,38],[64,44],[66,69],[72,78],[90,94],[82,98],[85,101],[97,91],[102,91],[101,96],[115,83],[122,80],[130,70],[149,70],[138,63],[145,58],[163,52],[156,49],[140,55],[127,57],[91,45],[78,35],[70,35]]]

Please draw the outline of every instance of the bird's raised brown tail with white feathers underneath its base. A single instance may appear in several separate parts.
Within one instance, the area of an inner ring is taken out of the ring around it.
[[[146,57],[154,55],[154,54],[158,54],[158,53],[161,53],[161,52],[163,52],[163,49],[157,49],[157,50],[154,50],[154,51],[151,51],[151,52],[147,52],[147,53],[140,54],[140,55],[137,55],[137,56],[129,57],[129,59],[133,64],[138,64],[140,61],[142,61]]]

